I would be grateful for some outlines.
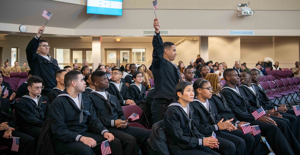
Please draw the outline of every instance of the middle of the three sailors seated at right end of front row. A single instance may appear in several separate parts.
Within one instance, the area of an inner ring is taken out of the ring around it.
[[[262,101],[260,101],[259,99],[258,90],[256,90],[256,88],[253,85],[251,85],[251,79],[251,73],[248,71],[243,71],[240,74],[241,85],[238,87],[238,89],[240,92],[244,93],[246,97],[250,97],[248,99],[250,106],[252,106],[253,110],[257,110],[263,105]],[[294,134],[295,138],[298,139],[298,141],[300,140],[300,134],[298,132],[300,125],[299,120],[296,116],[292,116],[285,113],[280,114],[277,112],[277,110],[274,109],[270,109],[268,111],[264,109],[264,111],[267,114],[270,114],[270,118],[276,122],[278,127],[281,128],[283,124],[287,124],[292,133]]]

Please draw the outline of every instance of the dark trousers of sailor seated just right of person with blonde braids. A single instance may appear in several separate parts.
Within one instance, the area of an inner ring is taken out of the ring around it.
[[[285,132],[285,130],[283,130],[283,132],[281,132],[276,125],[271,123],[260,121],[249,122],[251,125],[259,125],[259,128],[262,131],[261,135],[266,137],[268,144],[276,155],[293,155],[300,152],[300,148],[298,146],[299,144],[287,125],[283,125],[283,128],[285,128],[287,131]],[[293,142],[296,142],[296,144],[293,144]]]

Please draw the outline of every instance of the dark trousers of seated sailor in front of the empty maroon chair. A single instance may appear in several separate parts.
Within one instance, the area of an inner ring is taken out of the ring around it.
[[[138,155],[137,144],[141,145],[141,153],[148,155],[148,145],[146,140],[151,131],[137,127],[127,127],[125,129],[113,128],[109,130],[115,138],[120,139],[124,155]]]

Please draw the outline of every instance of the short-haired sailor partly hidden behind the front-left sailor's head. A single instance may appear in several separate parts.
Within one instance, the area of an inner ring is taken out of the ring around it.
[[[65,83],[64,78],[65,74],[67,73],[66,70],[60,69],[55,72],[55,79],[57,82],[56,87],[54,87],[48,94],[47,97],[49,98],[49,102],[52,103],[52,101],[65,89]]]

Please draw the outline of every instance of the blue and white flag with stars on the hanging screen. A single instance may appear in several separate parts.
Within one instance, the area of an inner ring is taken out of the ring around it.
[[[87,0],[86,13],[122,16],[123,0]]]

